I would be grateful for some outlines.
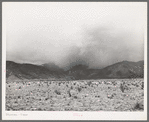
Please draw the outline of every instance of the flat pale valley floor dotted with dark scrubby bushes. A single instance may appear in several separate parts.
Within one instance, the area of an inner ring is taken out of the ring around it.
[[[6,81],[6,111],[144,111],[143,79]]]

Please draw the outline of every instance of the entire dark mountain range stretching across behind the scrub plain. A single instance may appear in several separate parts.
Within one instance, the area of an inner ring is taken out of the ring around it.
[[[113,78],[143,78],[144,61],[122,61],[102,69],[90,69],[86,65],[75,65],[65,71],[54,63],[43,65],[20,64],[6,61],[7,80],[49,79],[49,80],[85,80]]]

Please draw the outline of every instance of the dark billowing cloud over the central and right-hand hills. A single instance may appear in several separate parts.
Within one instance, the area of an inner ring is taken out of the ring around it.
[[[135,43],[140,40],[140,43]],[[143,36],[115,28],[96,27],[84,32],[81,47],[71,47],[61,65],[85,64],[90,68],[128,60],[139,61],[144,58]]]

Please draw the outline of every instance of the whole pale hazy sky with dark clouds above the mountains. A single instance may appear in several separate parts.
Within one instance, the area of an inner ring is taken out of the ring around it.
[[[143,60],[146,5],[4,2],[7,60],[90,68]]]

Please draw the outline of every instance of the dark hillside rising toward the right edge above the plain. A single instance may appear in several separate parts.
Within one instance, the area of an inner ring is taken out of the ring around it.
[[[143,78],[144,62],[123,61],[99,71],[96,71],[90,78]]]

